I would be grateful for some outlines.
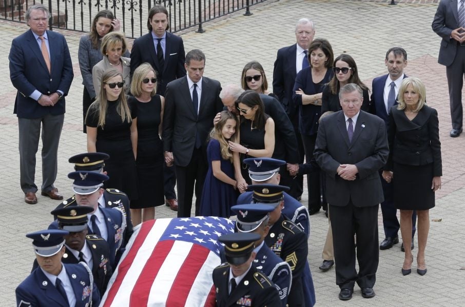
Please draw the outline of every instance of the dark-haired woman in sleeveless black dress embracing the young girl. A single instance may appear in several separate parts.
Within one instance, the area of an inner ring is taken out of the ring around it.
[[[271,157],[275,150],[275,122],[265,113],[260,95],[253,90],[243,92],[236,101],[240,114],[238,142],[229,141],[234,152],[234,170],[239,192],[247,189],[248,167],[242,163],[247,157]]]

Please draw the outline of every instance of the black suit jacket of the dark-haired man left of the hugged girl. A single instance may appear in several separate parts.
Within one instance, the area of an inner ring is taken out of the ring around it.
[[[197,114],[190,97],[187,76],[171,81],[166,87],[163,148],[173,153],[175,165],[188,165],[197,134],[202,142],[202,150],[206,152],[206,140],[213,128],[213,119],[223,109],[220,91],[221,85],[217,80],[202,77],[202,94]]]

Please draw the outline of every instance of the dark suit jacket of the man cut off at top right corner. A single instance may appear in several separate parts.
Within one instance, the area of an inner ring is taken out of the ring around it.
[[[459,44],[457,40],[451,38],[452,30],[460,27],[457,0],[439,2],[431,27],[437,35],[442,37],[438,63],[445,66],[452,65]]]

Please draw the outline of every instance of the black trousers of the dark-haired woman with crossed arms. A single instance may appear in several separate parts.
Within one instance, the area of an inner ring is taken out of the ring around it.
[[[305,149],[305,160],[310,162],[313,158],[315,150],[315,142],[317,135],[303,135],[302,142]],[[320,171],[307,174],[308,187],[308,210],[320,210],[321,208],[321,187],[320,187]]]

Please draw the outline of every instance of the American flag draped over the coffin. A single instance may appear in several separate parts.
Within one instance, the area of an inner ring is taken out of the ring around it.
[[[159,218],[134,228],[100,306],[214,306],[221,217]]]

